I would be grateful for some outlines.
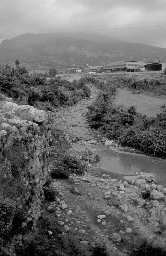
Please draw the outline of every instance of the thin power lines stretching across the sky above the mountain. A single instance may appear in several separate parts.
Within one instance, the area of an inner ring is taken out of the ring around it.
[[[56,30],[43,30],[43,31],[31,31],[26,33],[41,33],[41,32],[48,32],[48,31],[62,31],[62,30],[76,30],[76,29],[86,29],[86,28],[105,28],[105,27],[119,27],[119,26],[130,26],[130,25],[142,25],[142,24],[155,24],[155,23],[166,23],[166,22],[147,22],[147,23],[134,23],[134,24],[123,24],[123,25],[108,25],[108,26],[97,26],[97,27],[82,27],[82,28],[63,28],[63,29],[56,29]],[[82,33],[82,32],[92,32],[92,31],[102,31],[102,30],[121,30],[121,29],[130,29],[130,28],[148,28],[148,27],[165,27],[166,25],[151,25],[151,26],[141,26],[141,27],[124,27],[124,28],[108,28],[108,29],[100,29],[100,30],[85,30],[85,31],[72,31],[72,32],[62,32],[62,33]],[[22,32],[25,33],[25,32]],[[4,37],[5,35],[16,35],[20,33],[6,33],[1,34],[0,37]],[[59,33],[58,33],[59,34]],[[26,35],[27,36],[27,35]],[[7,36],[12,37],[12,36]]]

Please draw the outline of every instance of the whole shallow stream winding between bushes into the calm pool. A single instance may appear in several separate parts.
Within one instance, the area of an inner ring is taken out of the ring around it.
[[[166,161],[164,159],[140,155],[135,153],[137,150],[132,150],[131,153],[120,151],[116,147],[112,147],[114,149],[110,150],[108,146],[101,144],[103,136],[101,136],[98,131],[92,131],[88,128],[85,119],[87,106],[90,105],[98,95],[98,89],[94,86],[90,86],[90,88],[92,90],[91,95],[93,99],[82,100],[79,105],[72,106],[70,109],[63,112],[63,122],[80,139],[78,142],[73,143],[73,147],[81,150],[86,147],[85,142],[87,140],[97,140],[98,142],[91,146],[92,148],[96,148],[96,152],[100,156],[98,163],[104,170],[103,173],[109,174],[112,178],[123,178],[126,175],[135,175],[135,172],[154,173],[157,175],[158,184],[166,187]],[[96,162],[91,164],[96,166]]]

